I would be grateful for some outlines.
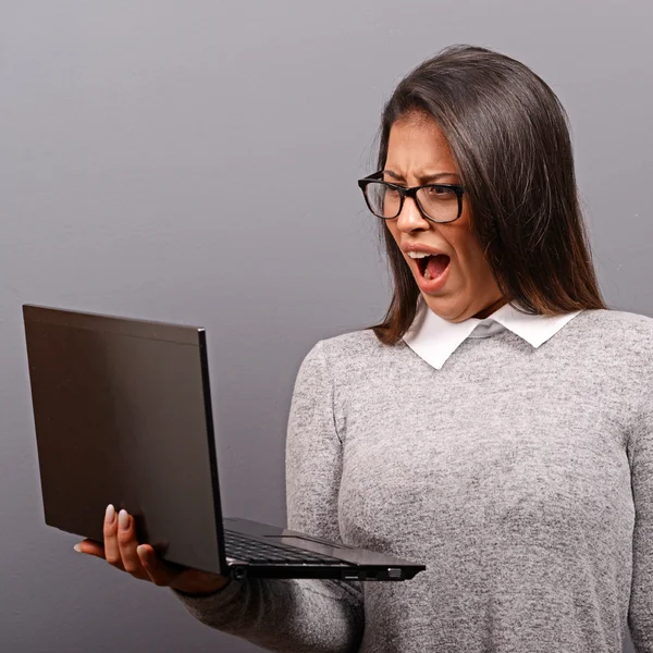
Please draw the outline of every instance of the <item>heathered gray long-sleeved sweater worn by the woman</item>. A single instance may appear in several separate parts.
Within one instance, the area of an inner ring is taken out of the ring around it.
[[[371,331],[295,384],[288,527],[412,559],[406,582],[249,580],[197,619],[272,651],[653,653],[653,319],[588,310],[441,370]]]

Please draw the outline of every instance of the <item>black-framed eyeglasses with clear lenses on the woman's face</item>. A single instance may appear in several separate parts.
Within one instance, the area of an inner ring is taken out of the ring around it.
[[[397,218],[406,197],[412,197],[419,212],[431,222],[453,222],[463,213],[463,194],[458,184],[426,184],[423,186],[398,186],[383,181],[383,172],[374,172],[358,180],[365,201],[370,211],[383,220]]]

